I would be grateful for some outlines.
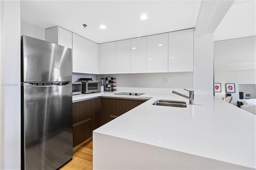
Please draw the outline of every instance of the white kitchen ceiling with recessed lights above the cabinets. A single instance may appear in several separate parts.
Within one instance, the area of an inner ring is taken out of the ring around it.
[[[201,0],[22,0],[21,19],[42,28],[60,26],[104,43],[194,28],[200,4]],[[141,20],[142,14],[148,19]],[[99,28],[102,24],[105,30]]]

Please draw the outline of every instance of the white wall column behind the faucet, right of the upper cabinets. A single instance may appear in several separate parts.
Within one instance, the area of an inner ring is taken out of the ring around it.
[[[194,93],[213,95],[213,33],[194,39]]]

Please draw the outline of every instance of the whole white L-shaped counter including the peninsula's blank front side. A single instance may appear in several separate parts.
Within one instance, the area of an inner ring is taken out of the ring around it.
[[[74,96],[116,97],[112,92]],[[93,132],[94,169],[255,169],[255,115],[213,96],[195,104],[174,94],[149,99]],[[157,99],[186,101],[186,108],[151,105]]]

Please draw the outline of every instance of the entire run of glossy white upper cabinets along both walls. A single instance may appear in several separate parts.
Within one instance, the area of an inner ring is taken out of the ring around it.
[[[46,41],[72,49],[74,73],[164,73],[194,71],[194,28],[97,44],[59,26]]]

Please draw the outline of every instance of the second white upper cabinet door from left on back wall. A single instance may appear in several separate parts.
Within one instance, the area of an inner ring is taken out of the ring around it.
[[[116,42],[116,73],[131,72],[131,40]]]

